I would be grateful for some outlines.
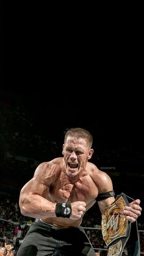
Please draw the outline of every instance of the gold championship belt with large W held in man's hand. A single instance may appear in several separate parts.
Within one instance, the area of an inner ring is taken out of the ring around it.
[[[107,256],[121,256],[125,245],[128,256],[140,255],[137,221],[131,223],[125,215],[121,215],[124,207],[129,206],[132,201],[134,199],[121,193],[102,215],[101,229],[108,248]]]

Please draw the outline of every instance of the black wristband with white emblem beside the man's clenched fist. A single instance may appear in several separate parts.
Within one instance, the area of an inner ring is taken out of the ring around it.
[[[56,216],[62,218],[70,218],[71,204],[70,203],[56,203]]]

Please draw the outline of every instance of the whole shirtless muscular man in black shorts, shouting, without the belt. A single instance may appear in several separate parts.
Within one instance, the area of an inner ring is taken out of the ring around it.
[[[35,222],[24,237],[18,256],[95,255],[81,227],[82,216],[99,194],[108,192],[106,199],[98,201],[102,214],[115,197],[110,177],[88,162],[93,155],[92,142],[87,130],[68,130],[63,157],[41,163],[21,189],[21,213],[35,218]],[[137,199],[122,214],[135,222],[141,211]]]

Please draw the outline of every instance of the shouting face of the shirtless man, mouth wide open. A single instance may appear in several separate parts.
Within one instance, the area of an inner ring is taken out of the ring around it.
[[[63,144],[62,153],[67,175],[74,177],[85,169],[88,159],[92,157],[93,149],[88,147],[85,139],[68,136]]]

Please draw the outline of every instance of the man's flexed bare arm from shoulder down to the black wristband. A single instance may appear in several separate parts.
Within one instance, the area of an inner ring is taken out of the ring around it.
[[[56,178],[56,174],[54,174],[54,170],[49,170],[48,163],[40,164],[37,167],[34,177],[21,189],[21,214],[32,218],[56,217],[56,203],[46,199],[49,186],[54,178]]]

